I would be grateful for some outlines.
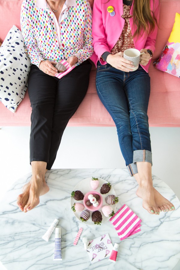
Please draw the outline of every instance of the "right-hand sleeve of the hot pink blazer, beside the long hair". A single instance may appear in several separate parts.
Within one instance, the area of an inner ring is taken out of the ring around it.
[[[155,7],[155,11],[154,11],[154,16],[157,19],[157,23],[159,23],[159,11],[160,11],[160,4],[159,1],[157,1],[156,7]],[[155,51],[155,43],[156,43],[156,36],[158,33],[158,25],[155,25],[155,29],[149,33],[144,49],[151,49],[152,52]]]

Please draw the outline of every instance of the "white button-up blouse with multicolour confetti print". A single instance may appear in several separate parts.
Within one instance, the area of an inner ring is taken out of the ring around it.
[[[21,6],[21,30],[26,52],[32,64],[42,60],[67,60],[72,55],[78,63],[93,53],[92,11],[88,0],[66,0],[59,20],[46,0],[24,0]]]

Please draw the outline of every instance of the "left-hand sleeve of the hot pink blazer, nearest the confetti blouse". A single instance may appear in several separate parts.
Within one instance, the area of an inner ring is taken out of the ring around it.
[[[100,59],[101,55],[104,52],[110,52],[110,49],[107,45],[105,29],[103,25],[101,0],[94,1],[92,12],[92,36],[95,54],[98,56],[101,64],[104,64],[104,61]]]

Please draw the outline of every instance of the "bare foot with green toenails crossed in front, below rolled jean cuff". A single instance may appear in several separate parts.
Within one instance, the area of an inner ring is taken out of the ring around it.
[[[141,182],[136,194],[138,197],[143,199],[143,208],[145,208],[150,214],[159,214],[160,210],[155,203],[151,181]]]

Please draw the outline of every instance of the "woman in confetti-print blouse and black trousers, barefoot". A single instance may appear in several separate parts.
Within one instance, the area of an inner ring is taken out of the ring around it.
[[[87,59],[93,53],[91,7],[87,0],[24,0],[21,28],[32,62],[28,80],[32,179],[17,198],[21,211],[27,212],[49,191],[45,173],[88,88],[91,64]],[[58,79],[53,64],[61,60],[75,67]]]

